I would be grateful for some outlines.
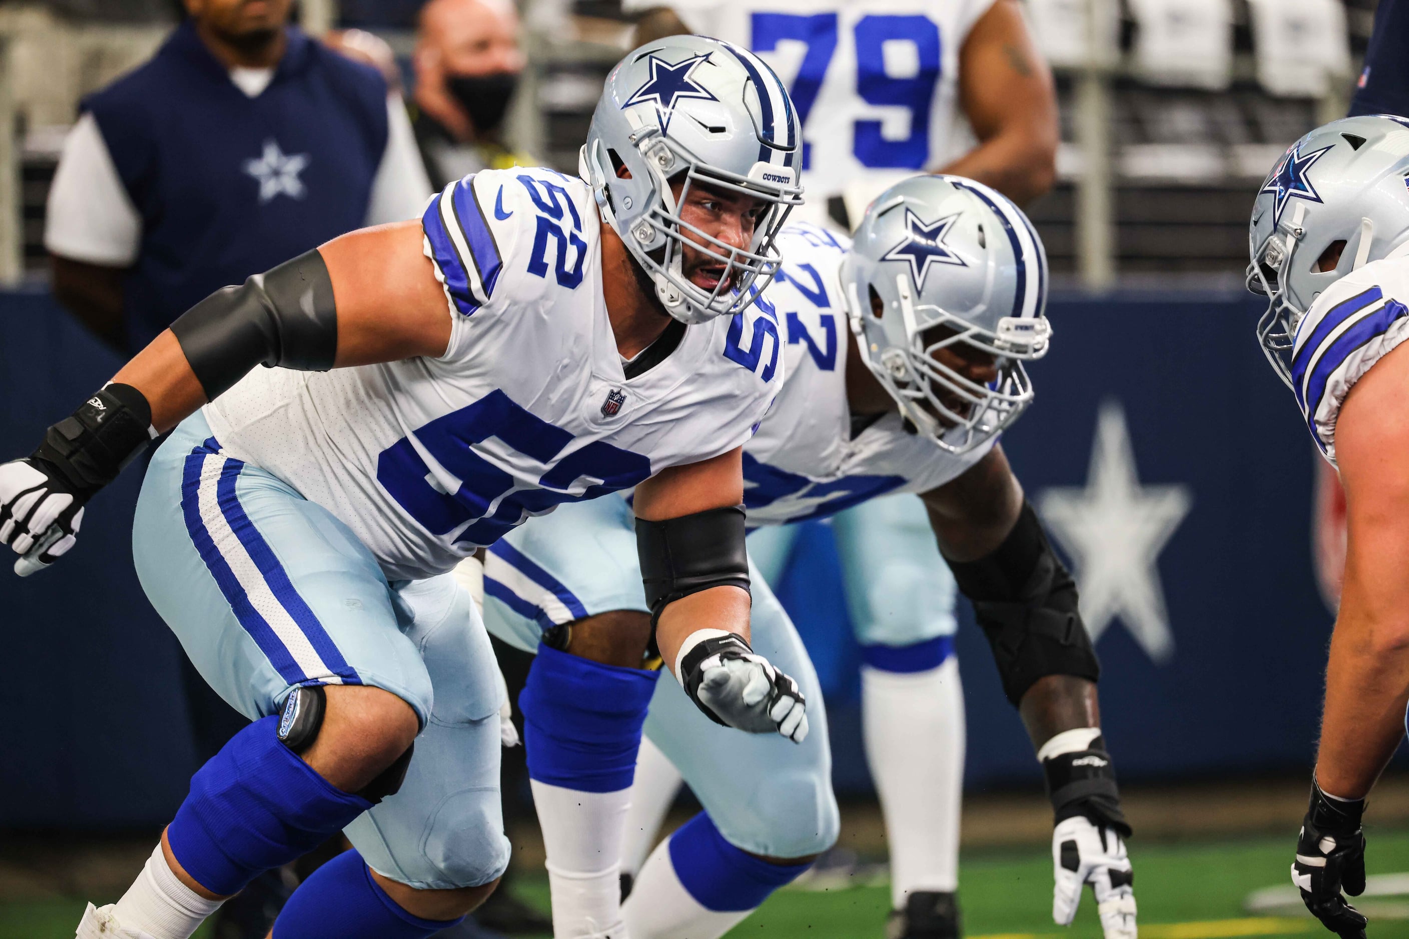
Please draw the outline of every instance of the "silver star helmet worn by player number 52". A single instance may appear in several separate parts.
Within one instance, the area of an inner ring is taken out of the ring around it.
[[[772,69],[727,42],[676,35],[635,49],[607,76],[581,173],[665,310],[703,322],[745,308],[776,273],[774,241],[802,204],[800,163],[797,115]],[[672,180],[765,203],[752,242],[740,249],[682,221],[688,190],[675,194]],[[726,265],[713,290],[682,273],[686,241]]]

